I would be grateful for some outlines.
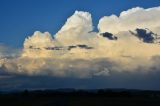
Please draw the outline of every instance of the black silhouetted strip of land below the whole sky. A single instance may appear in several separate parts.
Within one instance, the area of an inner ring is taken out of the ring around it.
[[[0,106],[160,106],[160,91],[56,89],[0,92]]]

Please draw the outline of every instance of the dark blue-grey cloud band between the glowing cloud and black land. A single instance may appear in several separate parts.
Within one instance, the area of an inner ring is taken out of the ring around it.
[[[92,78],[50,77],[50,76],[20,76],[0,80],[0,90],[24,89],[98,89],[98,88],[128,88],[128,89],[160,89],[160,73],[113,73],[109,77],[95,76]]]

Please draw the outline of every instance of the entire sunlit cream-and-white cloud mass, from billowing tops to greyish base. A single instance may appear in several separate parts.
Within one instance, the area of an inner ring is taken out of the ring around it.
[[[137,7],[119,17],[102,17],[99,32],[93,32],[91,14],[76,11],[54,36],[36,31],[26,38],[20,56],[10,58],[0,52],[0,69],[17,74],[76,77],[158,71],[159,19],[160,7]]]

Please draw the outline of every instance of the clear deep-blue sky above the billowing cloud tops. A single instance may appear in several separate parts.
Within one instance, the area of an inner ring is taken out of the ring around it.
[[[0,0],[0,43],[22,47],[24,39],[37,30],[54,35],[75,10],[90,12],[96,30],[105,15],[159,5],[159,0]]]

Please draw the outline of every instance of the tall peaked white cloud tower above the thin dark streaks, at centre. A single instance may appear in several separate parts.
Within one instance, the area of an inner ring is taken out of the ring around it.
[[[55,38],[62,45],[88,43],[88,41],[95,36],[95,33],[91,32],[92,30],[91,14],[88,12],[75,11],[55,35]]]

